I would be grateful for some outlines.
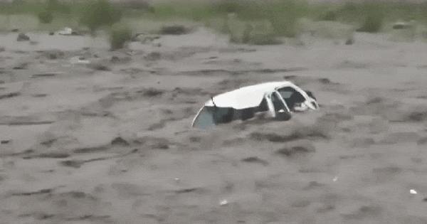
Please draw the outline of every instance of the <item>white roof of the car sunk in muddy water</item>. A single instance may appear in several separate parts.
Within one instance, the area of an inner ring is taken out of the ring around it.
[[[297,91],[302,91],[292,82],[265,82],[258,85],[249,85],[237,90],[225,92],[214,97],[217,107],[233,107],[236,110],[248,107],[257,107],[263,100],[265,92],[273,92],[282,87],[294,87]],[[206,102],[205,106],[213,107],[212,100]]]

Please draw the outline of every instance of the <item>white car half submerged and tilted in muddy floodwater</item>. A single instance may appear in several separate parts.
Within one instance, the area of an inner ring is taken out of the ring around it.
[[[191,125],[206,129],[238,119],[251,119],[257,112],[268,112],[270,117],[288,120],[292,112],[318,108],[312,92],[304,91],[292,82],[265,82],[212,97],[201,107]]]

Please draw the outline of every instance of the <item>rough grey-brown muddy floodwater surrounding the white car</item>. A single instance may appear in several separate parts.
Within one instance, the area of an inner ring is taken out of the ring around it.
[[[0,224],[427,223],[426,43],[26,34],[0,36]],[[320,109],[191,128],[212,96],[284,80]]]

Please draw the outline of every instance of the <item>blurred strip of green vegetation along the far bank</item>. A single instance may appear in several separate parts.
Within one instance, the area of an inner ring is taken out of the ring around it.
[[[427,2],[419,4],[408,2],[309,4],[307,1],[297,0],[218,0],[148,3],[127,0],[117,3],[108,0],[48,0],[41,4],[35,1],[14,0],[11,4],[0,4],[0,20],[3,20],[3,24],[8,26],[8,23],[9,25],[11,23],[11,15],[28,14],[38,18],[38,28],[42,30],[53,31],[60,27],[78,26],[88,28],[93,31],[94,35],[97,29],[109,28],[110,35],[113,36],[110,41],[112,41],[112,48],[114,49],[122,47],[122,40],[127,38],[130,33],[127,31],[127,26],[135,20],[139,21],[138,23],[146,23],[146,21],[186,19],[202,22],[218,32],[229,33],[228,28],[224,29],[224,22],[214,23],[212,20],[220,18],[225,21],[228,14],[235,14],[238,21],[243,21],[243,23],[239,25],[239,28],[234,28],[246,29],[245,32],[251,29],[248,24],[253,21],[268,21],[271,25],[269,33],[264,36],[257,34],[258,37],[254,38],[267,38],[270,39],[268,43],[276,43],[274,39],[278,36],[297,36],[299,31],[296,27],[296,21],[302,17],[310,18],[313,21],[349,23],[356,26],[358,31],[376,33],[381,31],[385,22],[396,21],[397,19],[415,18],[417,21],[426,21],[426,6]],[[16,23],[19,21],[14,21],[14,24]],[[25,22],[23,21],[23,23]],[[111,31],[113,24],[122,27],[116,27],[115,31]],[[133,31],[132,26],[129,28]],[[258,33],[265,32],[267,31],[263,30]],[[233,33],[231,34],[231,41],[242,43],[249,41],[245,35],[236,38]],[[253,40],[253,42],[258,41]]]

